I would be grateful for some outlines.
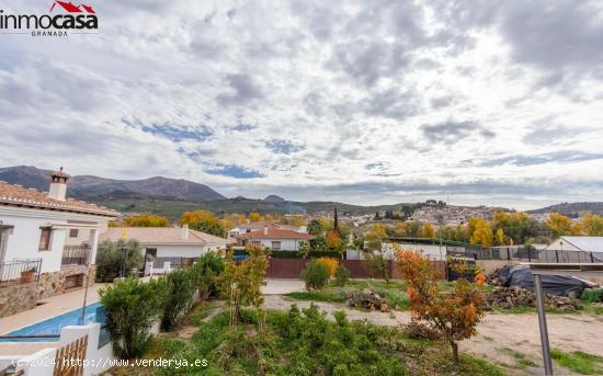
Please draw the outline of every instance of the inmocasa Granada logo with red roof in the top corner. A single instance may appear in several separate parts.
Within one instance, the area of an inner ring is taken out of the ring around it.
[[[31,34],[32,36],[67,36],[90,34],[99,30],[99,19],[91,5],[55,0],[48,14],[4,14],[0,10],[2,34]]]

